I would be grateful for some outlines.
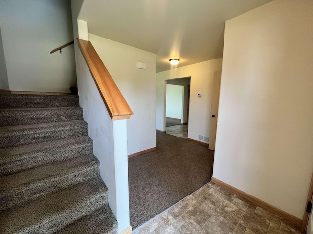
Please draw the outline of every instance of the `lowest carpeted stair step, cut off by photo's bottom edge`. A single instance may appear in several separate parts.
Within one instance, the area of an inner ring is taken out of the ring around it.
[[[117,221],[108,204],[55,234],[117,234]]]

